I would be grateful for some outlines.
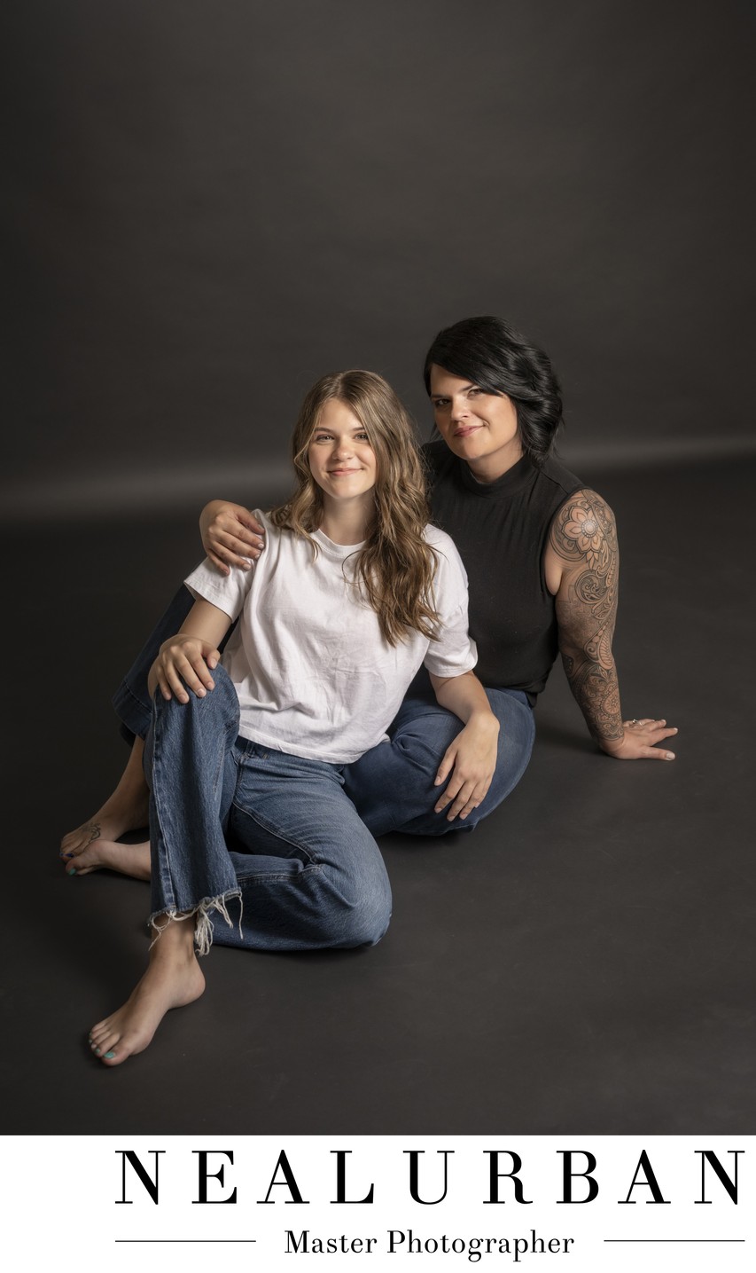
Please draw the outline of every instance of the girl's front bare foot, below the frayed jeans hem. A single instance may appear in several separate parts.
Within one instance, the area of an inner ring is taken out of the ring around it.
[[[89,1046],[106,1066],[120,1066],[149,1046],[171,1008],[193,1003],[204,989],[193,919],[171,922],[151,947],[149,967],[123,1007],[92,1029]]]

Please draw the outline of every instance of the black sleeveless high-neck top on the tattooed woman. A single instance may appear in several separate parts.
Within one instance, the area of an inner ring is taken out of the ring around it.
[[[470,580],[475,672],[491,689],[524,690],[532,703],[557,654],[543,550],[557,508],[585,485],[556,460],[527,456],[477,482],[445,442],[424,448],[433,523],[452,536]]]

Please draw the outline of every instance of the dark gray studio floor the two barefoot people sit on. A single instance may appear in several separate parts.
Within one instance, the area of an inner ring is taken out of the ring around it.
[[[680,726],[675,764],[597,754],[555,670],[505,807],[473,836],[383,841],[378,947],[214,948],[204,998],[116,1071],[85,1034],[143,967],[146,886],[70,880],[56,849],[123,763],[109,694],[199,554],[190,518],[19,533],[6,878],[31,889],[5,942],[4,1129],[752,1132],[752,479],[593,479],[621,531],[624,710]]]

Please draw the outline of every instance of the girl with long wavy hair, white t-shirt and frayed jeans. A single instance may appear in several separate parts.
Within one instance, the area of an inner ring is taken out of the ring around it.
[[[461,727],[445,760],[461,816],[494,773],[499,727],[472,673],[465,572],[428,524],[398,398],[372,372],[326,376],[291,451],[291,498],[256,512],[267,540],[256,569],[193,570],[193,605],[148,676],[149,843],[118,845],[117,862],[102,839],[67,854],[71,873],[115,864],[151,880],[148,970],[89,1035],[107,1066],[202,993],[196,955],[214,939],[267,951],[381,939],[391,890],[344,771],[381,746],[420,666]]]

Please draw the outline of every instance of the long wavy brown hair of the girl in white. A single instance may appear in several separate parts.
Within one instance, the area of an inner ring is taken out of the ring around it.
[[[437,555],[423,536],[429,522],[425,476],[410,418],[382,376],[337,372],[313,384],[291,437],[297,489],[270,518],[309,540],[317,554],[312,532],[322,521],[323,493],[309,471],[307,453],[323,406],[333,398],[363,425],[377,462],[374,513],[356,554],[355,580],[389,645],[411,630],[434,639],[439,622],[433,600]]]

